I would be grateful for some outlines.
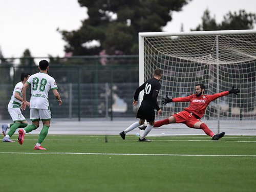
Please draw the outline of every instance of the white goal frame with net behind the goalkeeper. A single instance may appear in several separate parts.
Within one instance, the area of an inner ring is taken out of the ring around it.
[[[205,94],[228,91],[240,94],[212,101],[201,119],[215,133],[256,135],[256,30],[139,33],[140,84],[163,70],[158,103],[163,111],[156,121],[181,112],[189,102],[162,104],[162,98],[195,93],[197,83]],[[140,94],[140,101],[143,93]],[[160,127],[169,134],[204,134],[185,124]]]

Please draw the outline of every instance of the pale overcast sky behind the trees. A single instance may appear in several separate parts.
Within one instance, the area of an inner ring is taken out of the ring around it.
[[[163,30],[179,32],[182,24],[186,32],[195,29],[207,8],[211,17],[221,23],[229,11],[256,13],[256,1],[193,0],[182,11],[173,12],[172,21]],[[80,7],[77,0],[0,0],[2,54],[5,58],[21,57],[29,49],[33,57],[63,57],[66,42],[57,29],[77,30],[86,18],[87,8]]]

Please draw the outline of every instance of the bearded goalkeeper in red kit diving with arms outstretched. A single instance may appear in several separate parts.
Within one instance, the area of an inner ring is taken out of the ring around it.
[[[168,98],[168,96],[166,95],[166,98],[162,99],[164,105],[169,102],[190,102],[190,104],[188,108],[184,109],[184,111],[176,113],[167,119],[155,122],[154,127],[160,127],[164,124],[169,123],[184,123],[190,128],[203,130],[206,135],[212,137],[212,140],[219,140],[220,138],[222,138],[225,135],[225,132],[214,134],[208,128],[208,126],[200,119],[204,115],[205,110],[211,101],[214,101],[219,97],[223,97],[231,93],[237,95],[240,92],[240,90],[237,88],[235,89],[233,86],[230,91],[225,91],[214,95],[204,95],[204,91],[204,84],[197,84],[195,94],[193,95],[173,99]]]

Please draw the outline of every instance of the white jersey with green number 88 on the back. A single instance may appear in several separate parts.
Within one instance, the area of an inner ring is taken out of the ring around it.
[[[54,78],[46,73],[39,72],[31,75],[26,83],[31,87],[30,109],[48,110],[48,92],[58,89]]]

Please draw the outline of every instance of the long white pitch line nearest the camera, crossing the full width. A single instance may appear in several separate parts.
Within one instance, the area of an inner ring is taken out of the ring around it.
[[[191,154],[118,154],[118,153],[22,153],[0,152],[0,154],[68,154],[68,155],[133,155],[133,156],[190,156],[190,157],[256,157],[256,155],[191,155]]]

